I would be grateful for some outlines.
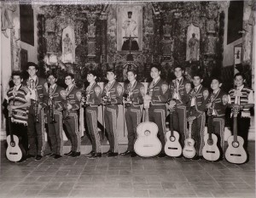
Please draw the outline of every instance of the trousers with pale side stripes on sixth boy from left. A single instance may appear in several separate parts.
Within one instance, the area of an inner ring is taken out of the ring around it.
[[[117,115],[118,105],[108,105],[104,111],[105,125],[108,133],[108,141],[112,152],[118,152]]]

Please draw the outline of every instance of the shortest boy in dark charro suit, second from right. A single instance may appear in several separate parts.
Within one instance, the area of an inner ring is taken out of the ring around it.
[[[221,90],[222,82],[218,77],[212,77],[212,93],[209,96],[207,112],[212,112],[212,133],[218,136],[218,143],[224,153],[225,110],[228,105],[228,95]],[[210,110],[210,111],[209,111]]]

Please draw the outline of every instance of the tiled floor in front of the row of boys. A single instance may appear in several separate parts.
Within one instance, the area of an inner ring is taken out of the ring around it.
[[[240,166],[125,156],[18,164],[5,159],[1,143],[0,197],[255,197],[254,142],[250,161]]]

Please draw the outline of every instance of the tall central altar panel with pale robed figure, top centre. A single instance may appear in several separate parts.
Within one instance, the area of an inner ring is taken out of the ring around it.
[[[119,6],[117,8],[117,50],[143,50],[142,6]]]

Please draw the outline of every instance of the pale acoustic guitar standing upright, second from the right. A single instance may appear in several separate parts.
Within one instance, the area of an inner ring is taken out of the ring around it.
[[[208,109],[208,133],[204,136],[202,155],[207,161],[218,161],[220,152],[217,146],[218,138],[212,133],[212,109]]]

